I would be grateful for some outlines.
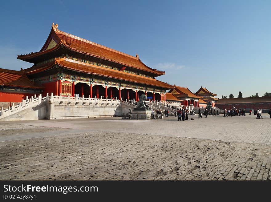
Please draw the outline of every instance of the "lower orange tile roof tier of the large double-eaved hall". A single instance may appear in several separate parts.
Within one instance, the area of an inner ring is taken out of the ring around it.
[[[114,69],[110,69],[106,67],[101,67],[97,65],[92,65],[89,63],[83,63],[83,62],[79,62],[79,61],[67,59],[67,58],[61,58],[61,59],[55,58],[55,62],[53,63],[48,63],[46,65],[38,66],[38,67],[35,67],[35,66],[30,67],[26,69],[25,71],[26,71],[26,74],[35,74],[35,73],[42,72],[50,68],[54,68],[55,65],[58,65],[59,67],[69,69],[72,71],[78,71],[78,72],[91,74],[91,75],[104,76],[108,78],[125,80],[125,81],[134,82],[134,83],[143,83],[147,85],[163,87],[166,89],[173,88],[172,85],[169,85],[168,83],[164,83],[156,79],[134,75],[131,73],[114,70]]]

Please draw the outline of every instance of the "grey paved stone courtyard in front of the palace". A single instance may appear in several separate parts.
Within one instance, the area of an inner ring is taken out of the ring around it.
[[[1,180],[271,180],[271,119],[0,122]]]

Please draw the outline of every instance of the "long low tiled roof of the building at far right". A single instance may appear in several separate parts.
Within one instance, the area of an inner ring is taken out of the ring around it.
[[[218,99],[216,104],[236,104],[236,103],[264,103],[270,102],[271,97],[263,96],[257,98],[226,98],[226,99]]]

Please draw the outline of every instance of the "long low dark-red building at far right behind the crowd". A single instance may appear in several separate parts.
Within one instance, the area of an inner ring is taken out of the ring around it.
[[[220,109],[271,109],[271,97],[218,99],[215,106]]]

